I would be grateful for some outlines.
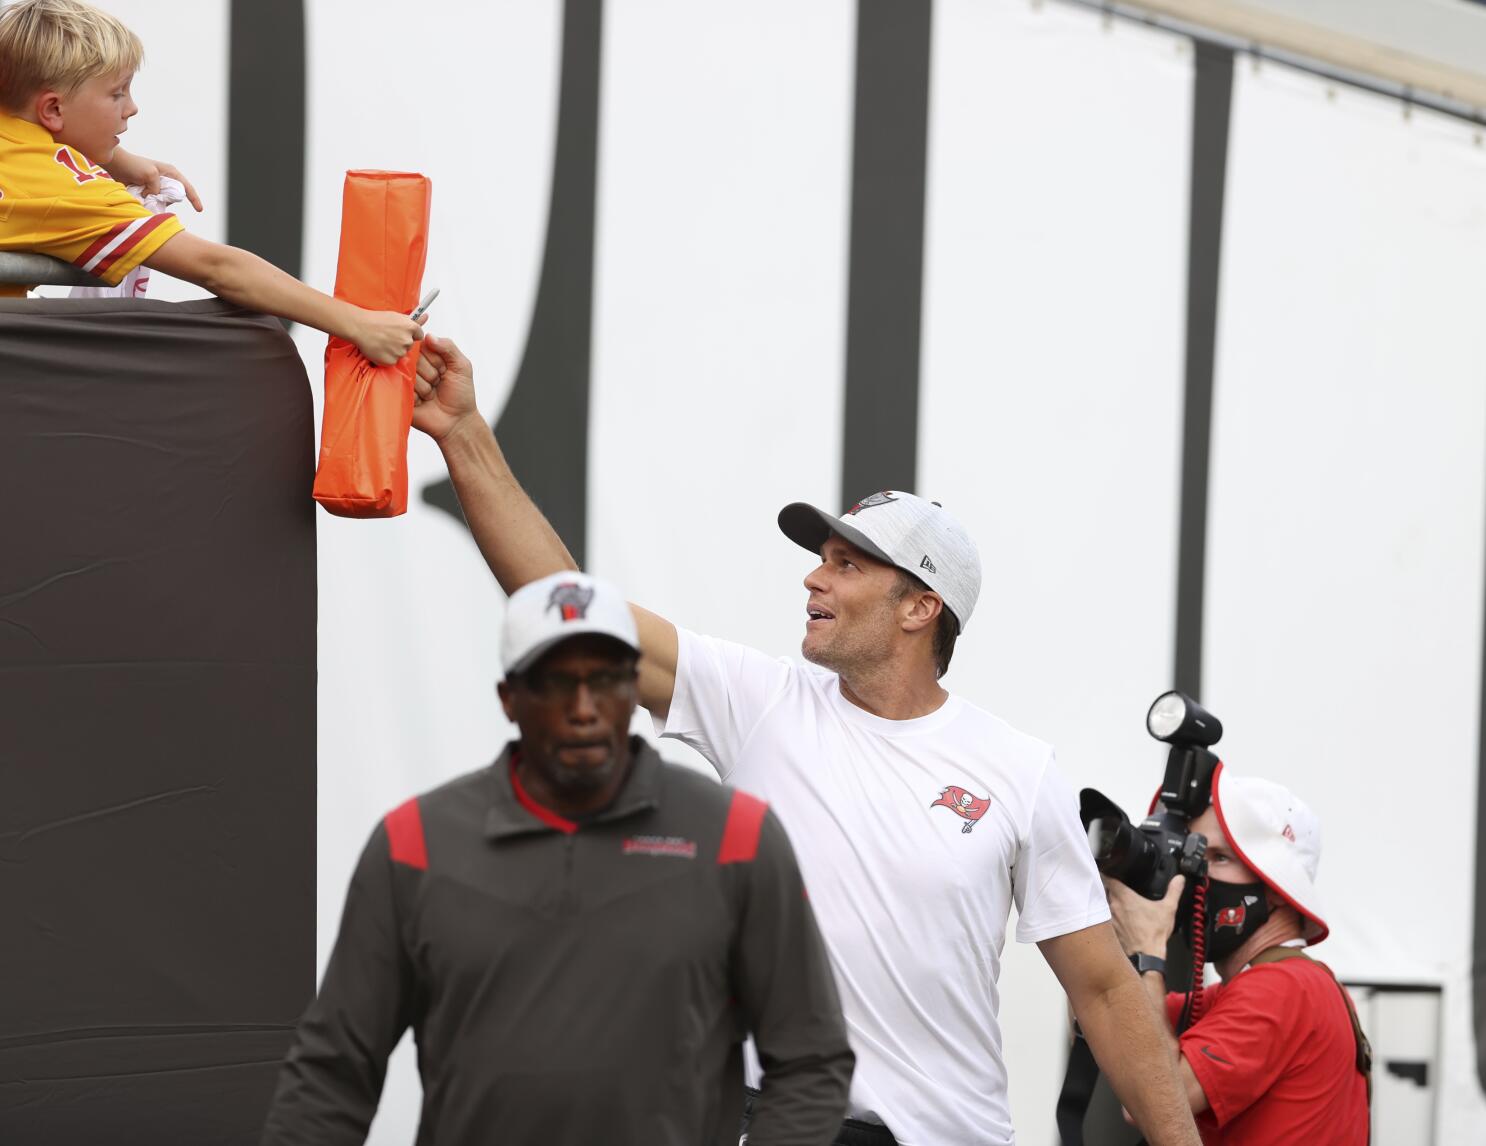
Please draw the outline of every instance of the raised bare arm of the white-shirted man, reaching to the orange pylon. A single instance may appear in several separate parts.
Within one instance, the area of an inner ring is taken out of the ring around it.
[[[438,443],[465,522],[501,589],[514,593],[547,574],[577,569],[557,531],[511,473],[476,404],[474,367],[450,339],[424,339],[416,388],[413,425]],[[640,703],[664,718],[676,690],[676,627],[639,605],[630,609],[643,654]]]

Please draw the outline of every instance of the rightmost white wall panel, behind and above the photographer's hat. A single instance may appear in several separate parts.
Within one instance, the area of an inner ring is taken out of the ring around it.
[[[1479,1142],[1486,150],[1282,68],[1233,95],[1205,700],[1321,816],[1320,956],[1444,984],[1440,1142]]]

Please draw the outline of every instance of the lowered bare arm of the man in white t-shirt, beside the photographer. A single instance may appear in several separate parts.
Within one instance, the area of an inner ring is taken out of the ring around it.
[[[1083,1036],[1152,1146],[1199,1146],[1165,1018],[1109,923],[1037,944],[1073,1003]]]

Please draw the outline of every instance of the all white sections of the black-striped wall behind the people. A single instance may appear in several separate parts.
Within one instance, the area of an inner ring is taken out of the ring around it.
[[[187,223],[220,238],[226,3],[104,6],[149,48],[126,141],[187,169],[208,201]],[[305,276],[333,284],[346,168],[431,175],[434,327],[492,418],[536,288],[560,16],[309,4]],[[808,562],[773,516],[865,492],[837,488],[854,4],[611,0],[603,52],[590,563],[788,651]],[[941,0],[933,52],[920,488],[985,557],[950,684],[1134,807],[1161,771],[1144,709],[1171,682],[1190,51],[1058,4]],[[1238,68],[1204,699],[1235,768],[1290,777],[1326,819],[1337,971],[1446,985],[1441,1143],[1486,1116],[1462,994],[1483,183],[1458,123]],[[318,401],[324,340],[297,337]],[[376,819],[507,731],[501,595],[416,499],[441,474],[418,436],[410,468],[406,517],[319,516],[321,962]],[[1419,779],[1447,798],[1424,804]],[[1385,846],[1410,818],[1428,841]],[[1412,905],[1419,878],[1438,910]],[[1012,1104],[1048,1143],[1061,996],[1034,953],[1008,956]],[[404,1045],[373,1142],[410,1140],[416,1110]]]

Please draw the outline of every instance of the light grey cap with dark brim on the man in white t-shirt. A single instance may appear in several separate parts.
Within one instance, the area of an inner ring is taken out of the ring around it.
[[[981,595],[981,554],[964,526],[938,501],[884,489],[862,498],[840,517],[795,501],[779,511],[779,528],[814,554],[831,534],[838,534],[929,586],[954,614],[961,633],[970,623]]]

